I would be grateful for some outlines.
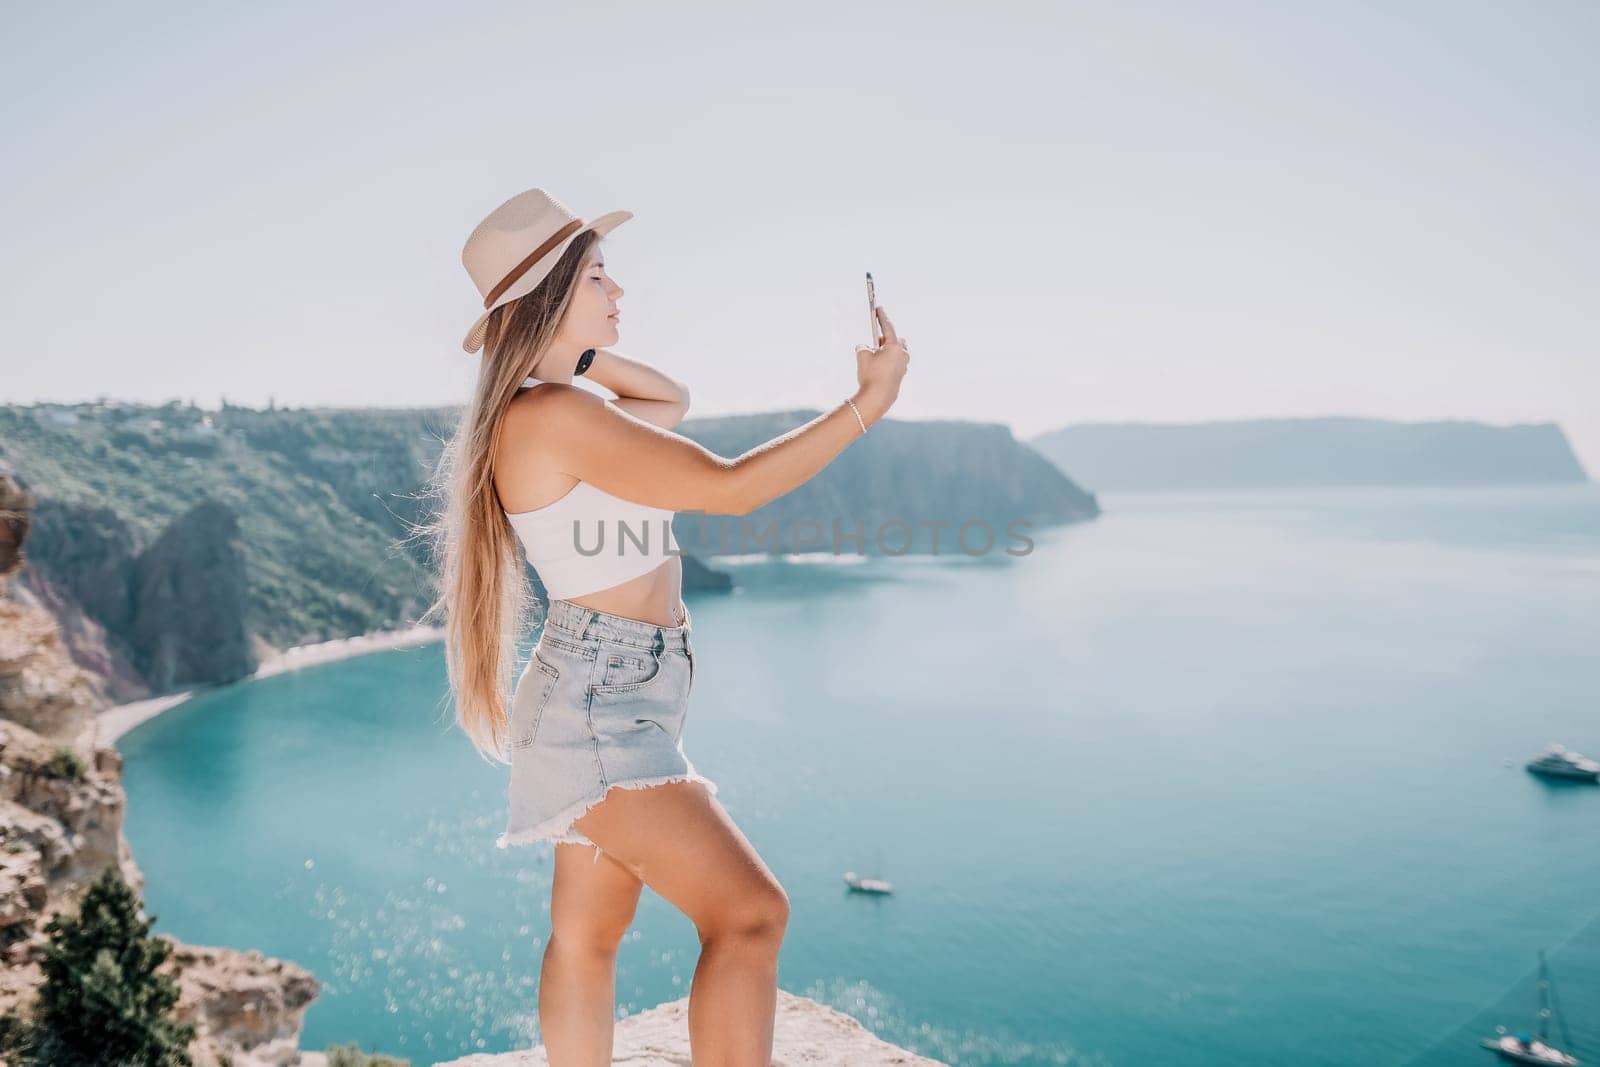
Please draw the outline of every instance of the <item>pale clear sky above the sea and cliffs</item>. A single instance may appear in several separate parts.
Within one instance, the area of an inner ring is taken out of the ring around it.
[[[1600,5],[29,5],[0,400],[459,403],[542,186],[694,414],[1558,421],[1600,475]]]

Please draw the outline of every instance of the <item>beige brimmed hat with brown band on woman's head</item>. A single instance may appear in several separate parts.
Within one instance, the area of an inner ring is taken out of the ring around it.
[[[533,293],[579,234],[594,230],[605,237],[630,218],[632,211],[611,211],[584,222],[542,189],[518,192],[490,211],[461,250],[461,266],[483,296],[483,314],[472,323],[461,347],[467,352],[482,349],[490,312]]]

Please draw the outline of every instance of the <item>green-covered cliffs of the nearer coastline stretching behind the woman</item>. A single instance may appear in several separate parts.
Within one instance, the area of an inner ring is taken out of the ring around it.
[[[459,414],[0,406],[0,470],[37,499],[22,581],[112,702],[243,678],[291,645],[406,629],[434,598],[427,545],[405,541],[408,523],[426,518],[422,488]],[[690,419],[678,430],[731,458],[816,414]],[[861,531],[866,552],[882,541],[898,553],[909,530],[909,550],[931,550],[938,533],[938,550],[954,553],[962,523],[979,523],[962,544],[992,537],[1002,552],[1019,547],[1013,522],[1098,514],[1093,494],[1003,426],[883,419],[798,490],[720,517],[726,534],[693,512],[674,534],[685,590],[720,592],[731,577],[704,560],[827,550],[835,522],[846,539]],[[821,542],[806,544],[811,526]]]

